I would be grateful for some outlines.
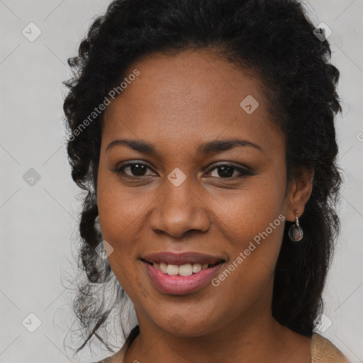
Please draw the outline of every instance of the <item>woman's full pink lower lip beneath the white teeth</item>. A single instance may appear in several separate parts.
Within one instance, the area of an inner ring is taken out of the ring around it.
[[[171,295],[191,294],[192,292],[201,289],[211,281],[213,275],[216,274],[216,271],[222,265],[221,263],[216,264],[216,266],[202,269],[200,272],[190,276],[180,276],[164,274],[160,269],[152,266],[152,264],[147,262],[143,263],[157,289],[164,294]]]

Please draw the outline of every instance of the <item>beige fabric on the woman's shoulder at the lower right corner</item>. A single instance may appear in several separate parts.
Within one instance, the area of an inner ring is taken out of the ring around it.
[[[311,358],[312,363],[349,363],[330,340],[316,333],[311,337]]]

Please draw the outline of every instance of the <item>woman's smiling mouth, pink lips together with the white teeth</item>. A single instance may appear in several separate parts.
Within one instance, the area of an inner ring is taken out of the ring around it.
[[[163,294],[191,294],[208,285],[225,259],[195,252],[162,252],[141,259],[152,284]]]

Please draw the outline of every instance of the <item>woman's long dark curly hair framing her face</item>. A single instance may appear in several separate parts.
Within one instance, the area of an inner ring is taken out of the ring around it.
[[[337,167],[334,118],[342,112],[336,93],[340,72],[330,65],[327,40],[298,0],[116,0],[94,20],[68,62],[74,73],[64,82],[67,152],[72,178],[84,189],[79,231],[78,294],[74,298],[84,342],[93,336],[111,350],[100,332],[111,311],[127,297],[107,259],[95,248],[97,173],[103,114],[84,121],[127,76],[133,62],[155,52],[174,55],[207,49],[241,69],[249,69],[265,87],[272,120],[286,136],[286,170],[314,171],[313,190],[301,216],[303,240],[291,243],[285,224],[274,276],[272,314],[282,325],[310,337],[322,311],[322,291],[340,229],[336,213],[342,174]],[[116,298],[105,306],[107,284]],[[102,295],[102,298],[100,296]]]

